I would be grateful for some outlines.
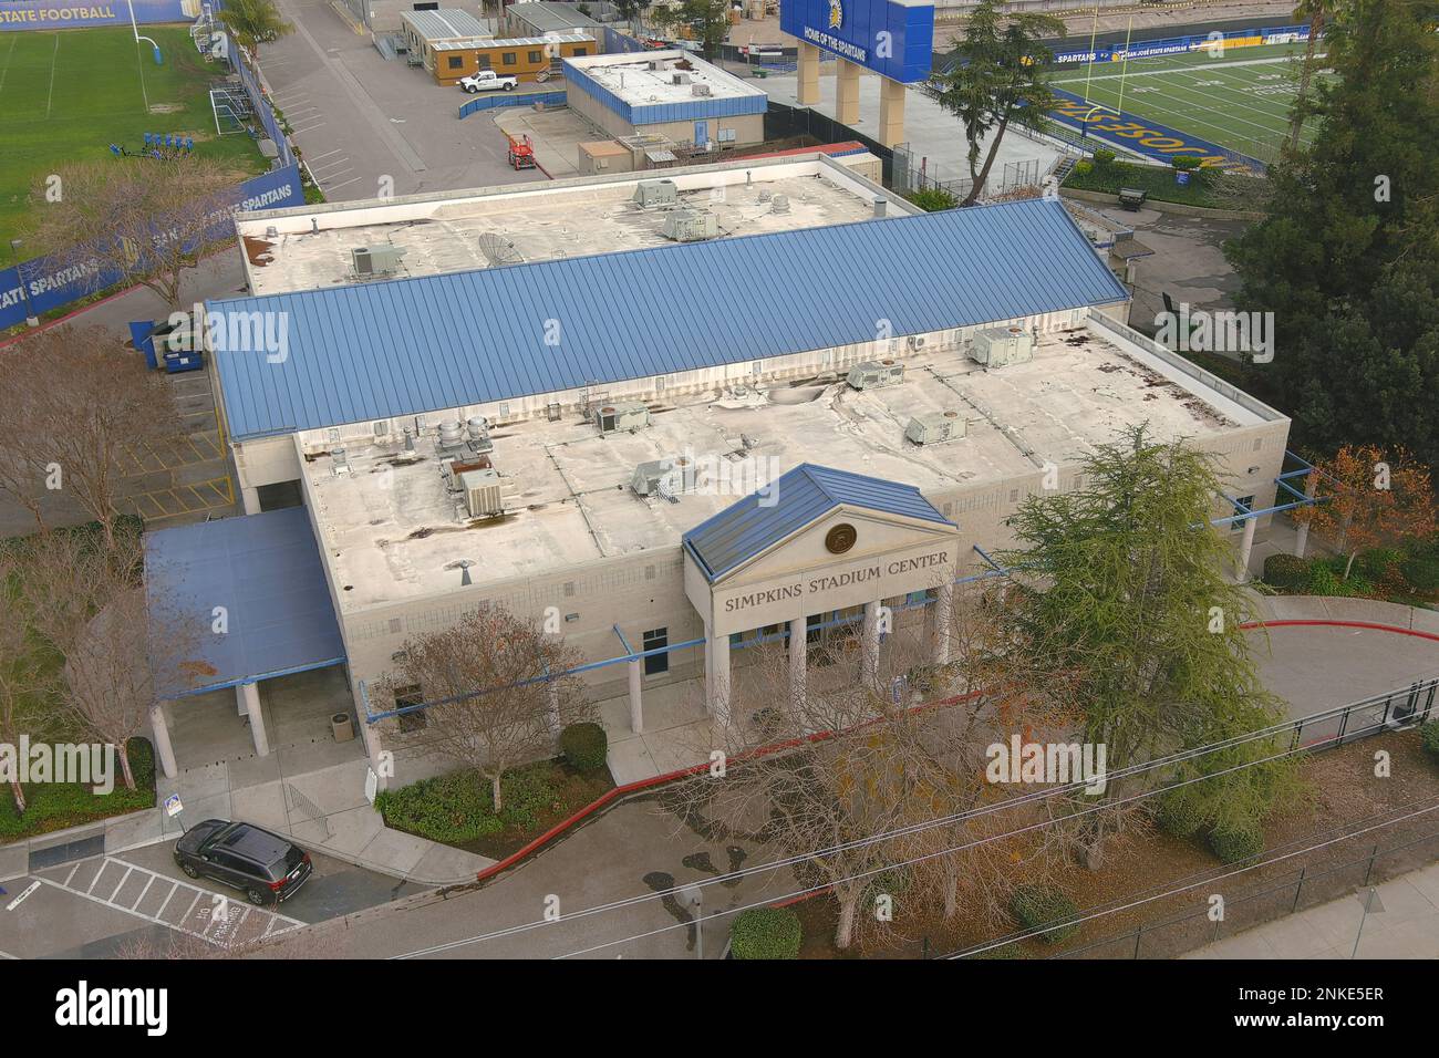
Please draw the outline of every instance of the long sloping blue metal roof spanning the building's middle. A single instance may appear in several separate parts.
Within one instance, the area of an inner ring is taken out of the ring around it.
[[[1128,298],[1058,200],[209,302],[288,351],[214,354],[253,438]],[[558,324],[558,344],[547,344]],[[249,330],[249,328],[240,328]]]

